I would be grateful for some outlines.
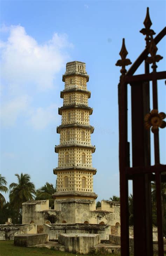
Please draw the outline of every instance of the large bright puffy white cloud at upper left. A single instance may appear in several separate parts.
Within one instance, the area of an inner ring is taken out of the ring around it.
[[[2,78],[11,84],[23,86],[32,83],[40,89],[51,88],[56,74],[69,57],[62,53],[62,49],[71,46],[66,34],[55,33],[51,40],[39,44],[27,35],[24,27],[11,26],[8,40],[1,42]]]

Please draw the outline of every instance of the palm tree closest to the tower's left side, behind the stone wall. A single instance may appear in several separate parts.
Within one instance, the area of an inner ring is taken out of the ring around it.
[[[46,182],[46,184],[36,190],[36,198],[35,200],[49,200],[49,206],[51,208],[54,207],[54,197],[53,194],[56,192],[56,186],[53,184]]]

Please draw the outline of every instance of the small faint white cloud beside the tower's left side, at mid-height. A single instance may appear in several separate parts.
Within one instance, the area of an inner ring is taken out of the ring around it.
[[[35,129],[44,129],[49,123],[54,123],[57,120],[57,106],[50,105],[47,108],[39,107],[32,113],[29,123]]]

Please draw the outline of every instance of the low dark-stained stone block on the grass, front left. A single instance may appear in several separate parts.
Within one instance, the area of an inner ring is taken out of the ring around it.
[[[45,244],[49,242],[48,234],[22,234],[14,237],[14,245],[32,246],[37,244]]]

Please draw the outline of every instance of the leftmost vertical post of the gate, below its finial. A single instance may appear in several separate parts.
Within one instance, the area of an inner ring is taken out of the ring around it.
[[[129,206],[128,180],[125,175],[127,163],[127,85],[123,78],[119,83],[119,171],[120,171],[120,214],[121,255],[129,256]]]

